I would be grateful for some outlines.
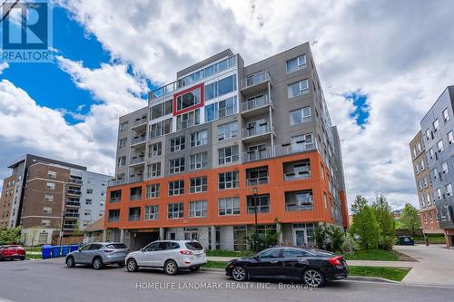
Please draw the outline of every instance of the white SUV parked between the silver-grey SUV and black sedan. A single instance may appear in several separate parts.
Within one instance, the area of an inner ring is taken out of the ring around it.
[[[206,264],[202,245],[195,240],[158,240],[126,257],[130,272],[139,268],[163,268],[167,275],[175,275],[180,269],[196,271]]]

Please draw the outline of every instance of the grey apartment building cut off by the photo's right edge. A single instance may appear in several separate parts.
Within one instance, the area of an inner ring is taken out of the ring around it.
[[[435,219],[439,222],[439,228],[443,229],[449,247],[454,247],[453,102],[454,86],[449,86],[420,122],[422,143],[426,150],[432,183],[431,199],[435,203]]]

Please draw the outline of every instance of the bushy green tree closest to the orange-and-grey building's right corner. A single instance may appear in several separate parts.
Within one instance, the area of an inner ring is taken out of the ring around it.
[[[379,239],[379,224],[368,200],[358,195],[351,205],[353,219],[350,234],[361,248],[377,248]]]

